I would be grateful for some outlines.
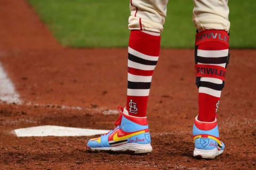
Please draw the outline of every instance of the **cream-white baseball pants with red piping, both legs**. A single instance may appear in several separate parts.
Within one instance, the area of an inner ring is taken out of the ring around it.
[[[130,0],[130,30],[162,32],[168,0]],[[193,22],[198,31],[229,31],[228,0],[193,0]]]

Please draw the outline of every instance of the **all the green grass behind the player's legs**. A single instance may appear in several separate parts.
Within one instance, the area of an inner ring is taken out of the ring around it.
[[[127,47],[130,1],[28,0],[55,38],[65,47]],[[232,0],[230,47],[256,47],[256,1]],[[193,2],[170,0],[162,33],[162,47],[193,48]]]

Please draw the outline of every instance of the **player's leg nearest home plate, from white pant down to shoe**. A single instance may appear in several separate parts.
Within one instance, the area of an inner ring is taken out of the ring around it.
[[[131,150],[151,152],[146,107],[150,83],[158,61],[160,32],[166,15],[167,0],[131,0],[128,48],[128,87],[126,108],[119,107],[116,128],[100,138],[91,139],[91,150]]]

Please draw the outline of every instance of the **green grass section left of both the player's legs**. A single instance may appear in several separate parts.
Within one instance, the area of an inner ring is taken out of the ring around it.
[[[129,1],[30,0],[63,46],[125,47]]]

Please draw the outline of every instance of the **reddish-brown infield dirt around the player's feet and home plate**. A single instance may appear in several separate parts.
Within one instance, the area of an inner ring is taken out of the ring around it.
[[[256,168],[256,50],[231,49],[218,111],[226,149],[215,160],[193,157],[192,49],[161,50],[147,113],[151,154],[90,153],[91,137],[16,137],[12,130],[38,125],[113,129],[118,115],[102,113],[125,104],[127,49],[63,48],[27,2],[0,2],[0,63],[22,100],[0,104],[0,169]]]

